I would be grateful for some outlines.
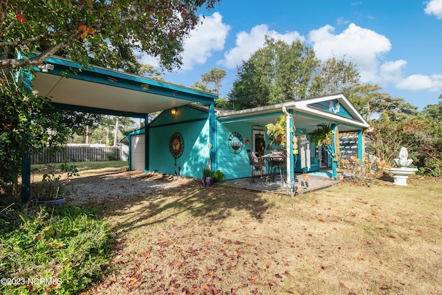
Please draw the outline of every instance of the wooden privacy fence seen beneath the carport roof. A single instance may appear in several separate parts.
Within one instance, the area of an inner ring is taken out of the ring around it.
[[[120,160],[118,146],[64,146],[59,151],[44,148],[32,153],[32,164],[60,163],[68,160],[79,162]]]

